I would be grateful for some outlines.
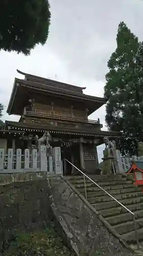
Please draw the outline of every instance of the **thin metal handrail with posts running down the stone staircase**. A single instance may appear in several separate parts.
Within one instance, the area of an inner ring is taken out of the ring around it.
[[[134,226],[135,226],[135,237],[136,237],[136,243],[137,243],[137,247],[139,249],[139,242],[138,242],[138,236],[137,236],[137,229],[136,229],[136,221],[135,221],[135,215],[134,213],[129,210],[125,205],[123,205],[122,203],[120,203],[116,198],[114,198],[113,196],[111,196],[104,188],[102,188],[101,186],[99,186],[94,180],[92,180],[88,175],[84,174],[80,169],[78,169],[74,164],[72,164],[69,160],[65,159],[68,163],[70,163],[74,168],[76,168],[82,175],[84,178],[84,188],[85,188],[85,198],[88,199],[87,196],[87,188],[86,188],[86,183],[85,183],[85,177],[88,178],[90,181],[92,181],[96,186],[98,186],[102,191],[104,191],[109,197],[111,197],[113,200],[115,200],[117,203],[119,203],[123,208],[125,208],[128,212],[130,212],[130,214],[133,216],[133,222],[134,222]]]

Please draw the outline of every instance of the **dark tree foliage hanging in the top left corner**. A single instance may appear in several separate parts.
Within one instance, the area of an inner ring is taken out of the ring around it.
[[[49,32],[48,0],[5,0],[0,3],[0,50],[30,54],[44,45]]]

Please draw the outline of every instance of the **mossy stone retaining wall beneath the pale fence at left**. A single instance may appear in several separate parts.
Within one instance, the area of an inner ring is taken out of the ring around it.
[[[0,184],[1,249],[3,243],[11,240],[15,230],[25,232],[41,229],[48,222],[47,180],[44,179],[44,173],[41,177],[37,180],[31,177],[27,181]]]

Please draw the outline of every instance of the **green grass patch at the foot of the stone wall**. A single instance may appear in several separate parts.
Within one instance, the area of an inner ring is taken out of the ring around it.
[[[62,256],[68,252],[58,234],[53,229],[46,229],[17,233],[2,256]]]

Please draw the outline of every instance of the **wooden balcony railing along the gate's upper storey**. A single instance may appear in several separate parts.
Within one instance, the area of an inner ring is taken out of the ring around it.
[[[79,122],[86,122],[86,123],[96,123],[99,124],[98,121],[95,120],[86,120],[82,118],[74,117],[72,113],[63,112],[63,111],[52,111],[52,110],[41,110],[41,109],[35,109],[34,111],[26,111],[27,115],[31,116],[41,116],[41,117],[51,117],[56,119],[62,119],[62,120],[73,120],[73,121],[79,121]]]

